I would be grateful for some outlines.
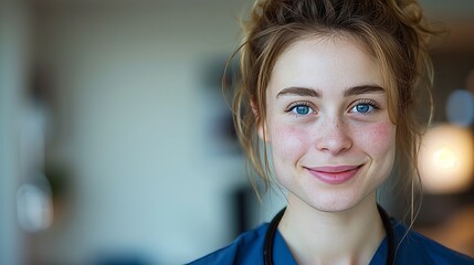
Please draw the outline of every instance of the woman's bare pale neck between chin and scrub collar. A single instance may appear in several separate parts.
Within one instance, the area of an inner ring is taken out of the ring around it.
[[[323,212],[293,194],[278,225],[298,264],[369,264],[385,236],[376,195],[341,212]]]

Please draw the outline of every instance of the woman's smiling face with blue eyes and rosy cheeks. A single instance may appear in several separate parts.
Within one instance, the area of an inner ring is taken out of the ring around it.
[[[277,60],[259,127],[288,195],[322,211],[361,202],[389,176],[396,126],[378,62],[344,38],[295,42]]]

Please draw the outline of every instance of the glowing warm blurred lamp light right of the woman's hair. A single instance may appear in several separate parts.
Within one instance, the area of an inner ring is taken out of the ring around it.
[[[474,139],[468,129],[440,125],[423,136],[419,167],[423,189],[456,193],[473,181]]]

